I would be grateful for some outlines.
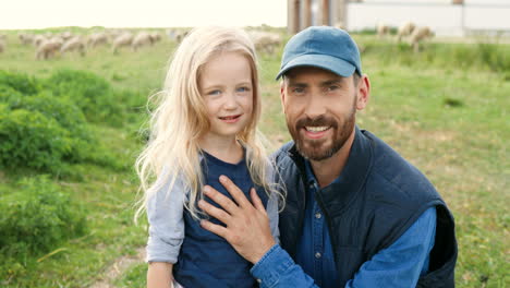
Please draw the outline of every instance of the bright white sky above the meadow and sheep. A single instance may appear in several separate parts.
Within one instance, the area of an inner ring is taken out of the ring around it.
[[[317,1],[318,0],[313,0]],[[365,0],[448,4],[451,0]],[[510,0],[465,0],[506,4]],[[287,25],[287,0],[0,0],[0,29]]]

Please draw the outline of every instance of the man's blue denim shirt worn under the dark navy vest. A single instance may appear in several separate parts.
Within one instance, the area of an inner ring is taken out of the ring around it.
[[[318,185],[308,161],[306,175],[309,190],[295,263],[279,245],[272,247],[252,268],[260,287],[338,287],[329,231],[315,202]],[[394,243],[365,262],[345,287],[415,287],[428,271],[435,231],[436,208],[432,207]]]

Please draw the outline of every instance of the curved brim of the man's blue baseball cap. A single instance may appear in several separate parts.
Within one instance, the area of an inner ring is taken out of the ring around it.
[[[284,73],[296,67],[316,67],[344,77],[349,77],[356,70],[356,68],[348,61],[329,55],[302,55],[282,67],[276,80],[279,80]]]

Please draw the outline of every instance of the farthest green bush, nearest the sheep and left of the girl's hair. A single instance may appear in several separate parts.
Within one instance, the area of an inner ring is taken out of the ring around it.
[[[120,99],[106,80],[90,72],[59,70],[46,81],[46,87],[56,96],[73,100],[90,122],[122,123]]]

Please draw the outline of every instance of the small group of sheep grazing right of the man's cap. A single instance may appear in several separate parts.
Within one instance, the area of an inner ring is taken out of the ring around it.
[[[389,35],[390,26],[379,23],[377,25],[377,35],[382,38]],[[420,50],[420,43],[427,38],[434,37],[434,32],[428,26],[417,26],[413,22],[403,23],[397,32],[397,41],[402,41],[408,38],[409,44],[413,47],[414,51]]]

